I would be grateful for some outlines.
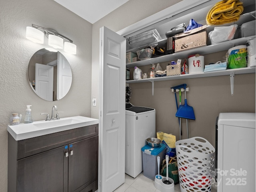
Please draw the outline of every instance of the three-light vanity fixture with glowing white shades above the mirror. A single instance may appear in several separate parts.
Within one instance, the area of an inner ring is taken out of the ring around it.
[[[26,38],[32,42],[43,44],[44,34],[48,38],[49,46],[52,46],[55,49],[62,49],[63,41],[66,40],[66,42],[64,42],[64,51],[67,53],[76,54],[76,45],[73,44],[73,41],[69,38],[58,34],[53,30],[49,30],[34,24],[32,24],[32,27],[26,28]]]

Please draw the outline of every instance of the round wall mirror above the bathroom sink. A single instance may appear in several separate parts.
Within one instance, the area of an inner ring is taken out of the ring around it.
[[[28,82],[42,99],[62,99],[72,83],[72,71],[62,53],[40,49],[28,63]]]

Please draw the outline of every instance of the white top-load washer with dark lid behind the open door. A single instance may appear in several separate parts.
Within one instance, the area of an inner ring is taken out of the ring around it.
[[[141,148],[156,137],[156,110],[126,103],[125,173],[135,178],[143,170]]]

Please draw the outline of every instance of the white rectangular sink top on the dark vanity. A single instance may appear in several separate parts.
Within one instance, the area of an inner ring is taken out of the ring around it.
[[[76,129],[89,125],[98,124],[98,119],[90,117],[75,116],[64,117],[58,120],[51,121],[34,121],[33,123],[20,123],[19,125],[8,125],[7,131],[16,140],[29,139],[59,131]]]

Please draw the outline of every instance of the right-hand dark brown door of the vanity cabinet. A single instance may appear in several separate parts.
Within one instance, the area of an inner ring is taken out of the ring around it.
[[[80,192],[97,180],[98,136],[69,144],[68,192]]]

